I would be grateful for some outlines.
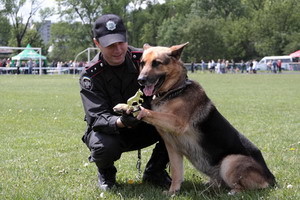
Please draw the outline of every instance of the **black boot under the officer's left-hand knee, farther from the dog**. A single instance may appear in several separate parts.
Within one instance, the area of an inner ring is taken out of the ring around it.
[[[98,168],[98,184],[101,190],[109,190],[116,185],[117,169],[112,166],[107,169]]]

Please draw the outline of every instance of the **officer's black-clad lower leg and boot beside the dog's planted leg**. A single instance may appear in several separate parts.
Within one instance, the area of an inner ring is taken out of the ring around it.
[[[146,165],[143,175],[143,182],[153,184],[155,186],[169,188],[171,178],[166,172],[169,156],[163,142],[156,144],[151,158]]]

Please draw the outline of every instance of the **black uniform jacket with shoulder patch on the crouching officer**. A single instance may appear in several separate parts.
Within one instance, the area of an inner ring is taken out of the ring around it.
[[[82,71],[80,95],[89,130],[119,133],[116,126],[119,115],[113,112],[113,107],[126,103],[139,89],[137,62],[141,54],[129,47],[122,65],[109,66],[99,53]]]

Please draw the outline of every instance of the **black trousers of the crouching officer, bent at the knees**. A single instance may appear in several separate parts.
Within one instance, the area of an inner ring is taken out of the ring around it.
[[[100,169],[113,167],[123,152],[134,151],[159,142],[155,149],[167,155],[164,142],[154,126],[140,123],[135,128],[123,128],[120,134],[107,134],[91,130],[83,137],[91,151],[90,162],[95,162]]]

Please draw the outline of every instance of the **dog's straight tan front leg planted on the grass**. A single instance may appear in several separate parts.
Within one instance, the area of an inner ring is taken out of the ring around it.
[[[172,183],[169,188],[168,194],[175,194],[180,190],[183,181],[183,155],[180,154],[170,143],[165,141],[170,159]]]

